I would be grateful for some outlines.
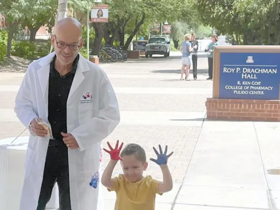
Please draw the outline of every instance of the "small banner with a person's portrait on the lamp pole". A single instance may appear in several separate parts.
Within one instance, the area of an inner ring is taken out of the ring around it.
[[[107,23],[108,22],[109,5],[94,5],[91,9],[91,22]]]

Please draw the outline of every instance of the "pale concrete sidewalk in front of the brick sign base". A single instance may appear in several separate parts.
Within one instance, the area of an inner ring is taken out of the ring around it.
[[[280,210],[279,123],[203,124],[184,181],[156,210]],[[104,189],[105,210],[115,193]]]

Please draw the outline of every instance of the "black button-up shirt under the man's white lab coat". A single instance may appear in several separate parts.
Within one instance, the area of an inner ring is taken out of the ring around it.
[[[77,69],[79,55],[75,58],[72,69],[61,76],[55,69],[56,56],[50,64],[48,120],[51,124],[53,138],[62,140],[61,132],[67,133],[67,100]]]

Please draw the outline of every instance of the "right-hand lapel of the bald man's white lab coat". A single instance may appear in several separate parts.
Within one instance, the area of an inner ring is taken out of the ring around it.
[[[70,93],[69,93],[67,102],[69,102],[69,100],[71,99],[74,92],[77,90],[77,88],[80,86],[80,84],[85,79],[85,76],[84,76],[83,72],[88,71],[88,70],[89,70],[89,67],[86,63],[86,60],[84,59],[83,56],[80,55],[77,70],[75,72],[75,76],[74,76],[74,79],[73,79],[73,82],[72,82],[72,86],[71,86],[71,89],[70,89]]]

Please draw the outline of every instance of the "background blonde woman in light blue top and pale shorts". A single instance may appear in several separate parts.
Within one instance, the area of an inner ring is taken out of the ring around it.
[[[186,34],[184,35],[184,41],[182,43],[182,46],[180,48],[180,52],[182,53],[182,59],[181,59],[181,78],[180,80],[184,80],[183,75],[184,75],[184,70],[186,70],[186,77],[185,80],[190,80],[189,79],[189,71],[190,71],[190,66],[192,64],[192,55],[191,52],[193,49],[196,49],[197,46],[194,45],[193,47],[191,46],[191,35]]]

